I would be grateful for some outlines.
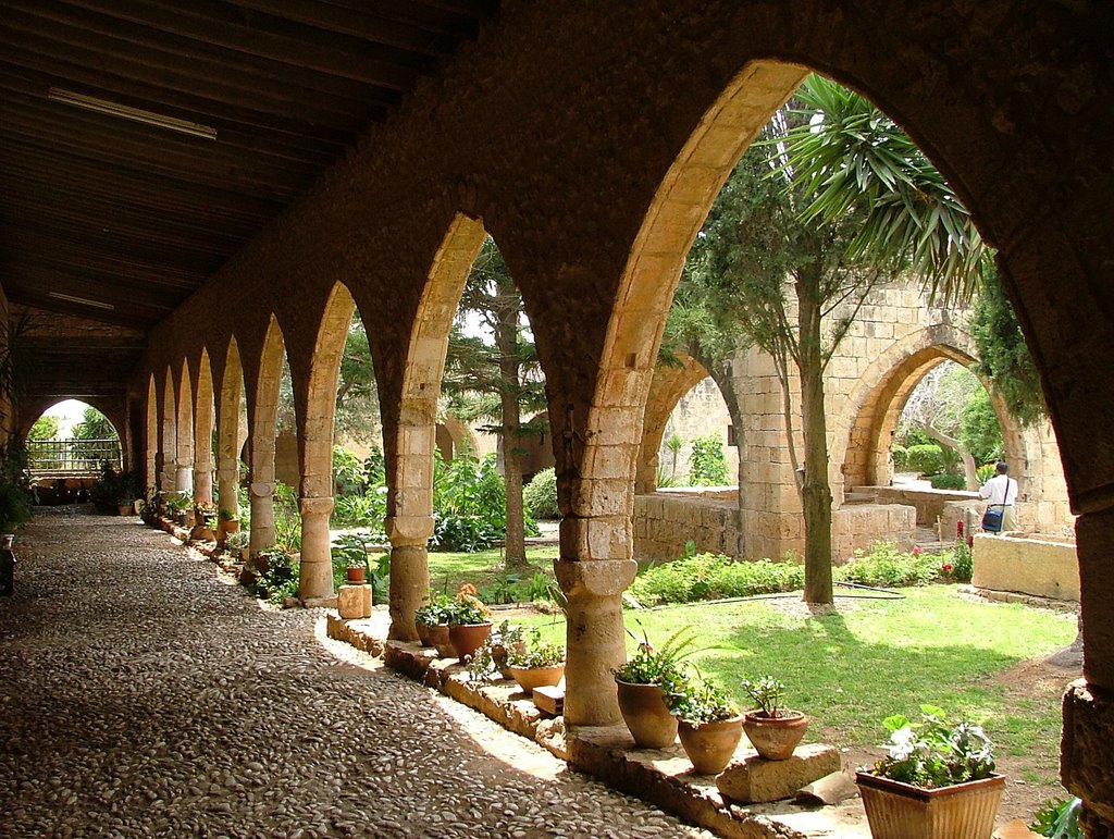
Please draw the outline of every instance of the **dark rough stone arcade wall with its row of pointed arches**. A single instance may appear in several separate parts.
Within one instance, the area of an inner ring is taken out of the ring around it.
[[[567,716],[614,720],[607,671],[623,655],[635,460],[664,312],[732,164],[805,68],[820,69],[903,125],[999,248],[1081,514],[1087,686],[1065,700],[1064,777],[1095,831],[1114,829],[1114,447],[1097,442],[1114,416],[1114,62],[1101,37],[1110,16],[1098,2],[556,10],[507,0],[497,23],[154,333],[130,404],[141,411],[153,384],[156,404],[130,426],[149,430],[155,419],[147,461],[166,486],[184,450],[175,436],[189,431],[173,402],[196,393],[203,350],[214,393],[225,392],[235,339],[253,458],[263,451],[256,414],[273,316],[296,396],[301,491],[323,510],[310,443],[330,428],[331,402],[311,398],[323,390],[311,372],[342,283],[375,362],[395,565],[417,569],[398,581],[395,632],[409,635],[429,511],[418,461],[433,437],[417,394],[436,389],[422,341],[439,340],[421,338],[421,301],[437,271],[466,271],[469,250],[491,233],[521,286],[548,382],[565,513],[557,570],[571,603]]]

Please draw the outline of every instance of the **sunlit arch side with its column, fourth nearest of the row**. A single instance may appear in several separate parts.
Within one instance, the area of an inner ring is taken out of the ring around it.
[[[282,329],[272,314],[256,367],[254,398],[248,401],[248,452],[251,453],[251,550],[256,554],[274,545],[275,430],[278,423],[278,389],[286,357]]]

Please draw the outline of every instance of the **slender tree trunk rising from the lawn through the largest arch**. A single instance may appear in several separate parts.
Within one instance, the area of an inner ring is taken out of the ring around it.
[[[804,438],[804,602],[832,597],[832,491],[828,482],[828,422],[824,417],[823,348],[819,276],[811,269],[797,277],[801,375],[801,433]]]

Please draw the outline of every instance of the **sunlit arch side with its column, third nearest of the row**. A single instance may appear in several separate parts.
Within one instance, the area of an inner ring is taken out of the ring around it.
[[[333,420],[341,357],[353,311],[355,302],[348,286],[334,284],[317,328],[306,408],[300,422],[302,567],[299,596],[303,601],[333,593],[329,536],[333,511]]]

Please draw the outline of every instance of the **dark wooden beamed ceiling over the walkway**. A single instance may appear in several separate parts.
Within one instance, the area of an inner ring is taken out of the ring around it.
[[[498,2],[3,0],[8,299],[149,330],[475,37]],[[180,124],[149,124],[158,117]],[[215,138],[183,133],[185,124]],[[55,360],[78,369],[56,370],[56,383],[77,394],[80,365],[96,365],[104,347],[59,341]],[[131,353],[113,355],[121,391]]]

